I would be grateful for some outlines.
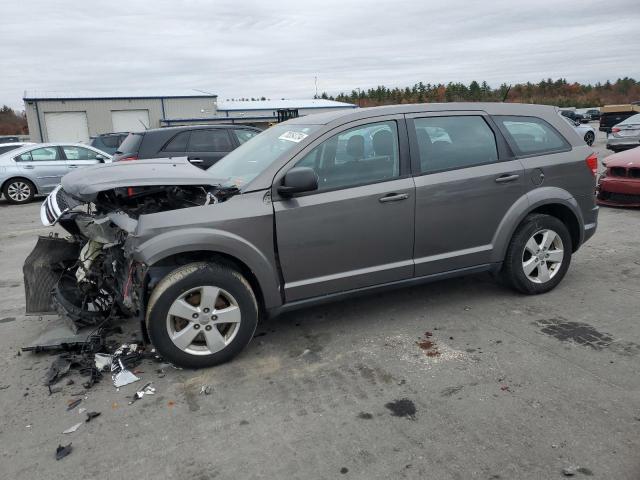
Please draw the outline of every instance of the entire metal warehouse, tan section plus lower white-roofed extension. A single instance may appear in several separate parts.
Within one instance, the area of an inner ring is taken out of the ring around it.
[[[219,105],[217,95],[193,90],[170,94],[25,92],[24,104],[34,142],[86,142],[101,133],[175,125],[266,127],[279,119],[356,108],[323,99],[225,101]]]

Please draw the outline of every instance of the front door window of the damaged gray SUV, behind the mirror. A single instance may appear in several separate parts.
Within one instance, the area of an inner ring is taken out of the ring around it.
[[[345,130],[325,140],[296,163],[313,168],[318,190],[355,187],[398,177],[396,122],[379,122]]]

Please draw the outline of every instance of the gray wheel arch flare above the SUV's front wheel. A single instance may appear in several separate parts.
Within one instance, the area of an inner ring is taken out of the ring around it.
[[[156,235],[133,250],[133,259],[153,266],[159,261],[179,253],[209,251],[235,258],[255,275],[265,308],[282,304],[278,272],[269,259],[246,239],[223,230],[187,228]]]

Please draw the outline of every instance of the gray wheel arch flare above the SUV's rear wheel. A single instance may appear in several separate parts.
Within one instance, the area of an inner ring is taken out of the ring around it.
[[[578,245],[582,244],[584,240],[584,219],[576,199],[562,188],[540,187],[520,197],[507,210],[491,242],[493,245],[492,262],[497,263],[504,260],[509,248],[509,242],[516,228],[527,215],[544,205],[562,205],[571,211],[580,227]]]

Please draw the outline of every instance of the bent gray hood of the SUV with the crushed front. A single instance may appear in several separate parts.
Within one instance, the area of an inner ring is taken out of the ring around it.
[[[68,173],[61,184],[72,197],[92,202],[98,193],[113,188],[218,185],[220,180],[181,157],[99,164]]]

